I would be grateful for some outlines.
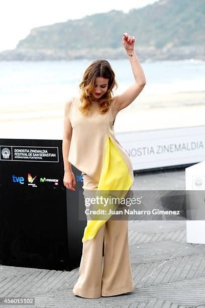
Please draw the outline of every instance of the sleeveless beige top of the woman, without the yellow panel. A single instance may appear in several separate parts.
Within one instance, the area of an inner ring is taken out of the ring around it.
[[[80,112],[80,98],[73,97],[69,111],[69,120],[72,126],[72,137],[68,161],[87,174],[97,186],[104,161],[108,134],[120,151],[131,179],[134,181],[133,166],[130,157],[117,140],[113,122],[112,106],[107,113],[98,112],[98,102],[92,102],[88,115]]]

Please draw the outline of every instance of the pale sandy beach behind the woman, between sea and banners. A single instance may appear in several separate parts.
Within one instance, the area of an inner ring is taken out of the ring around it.
[[[2,138],[62,139],[65,102],[1,106]],[[205,125],[205,92],[143,95],[117,115],[115,131]]]

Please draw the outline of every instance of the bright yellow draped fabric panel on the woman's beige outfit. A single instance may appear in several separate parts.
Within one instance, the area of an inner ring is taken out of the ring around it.
[[[123,159],[119,149],[116,144],[108,134],[106,142],[106,150],[104,156],[104,162],[102,165],[102,170],[100,174],[100,179],[96,191],[93,191],[93,197],[103,196],[104,198],[109,198],[109,196],[114,196],[117,198],[124,198],[133,184],[133,180],[130,176],[128,167],[125,160]],[[117,205],[109,203],[106,205],[106,209],[116,209]],[[94,204],[92,209],[105,209],[104,204]],[[92,219],[97,220],[87,220],[87,225],[84,229],[84,235],[82,242],[91,240],[97,230],[112,216],[112,214],[102,215],[104,220],[100,220],[100,215],[92,215]]]

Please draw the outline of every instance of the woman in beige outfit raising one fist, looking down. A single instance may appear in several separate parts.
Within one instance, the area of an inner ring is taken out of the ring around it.
[[[135,37],[124,33],[123,45],[135,82],[121,95],[115,73],[107,60],[93,61],[80,83],[80,98],[66,102],[63,136],[64,185],[75,191],[71,164],[83,174],[83,194],[91,191],[130,190],[134,181],[131,160],[117,140],[113,124],[118,112],[130,105],[146,84],[134,50]],[[104,268],[102,246],[105,245]],[[73,294],[99,298],[134,289],[128,246],[128,220],[87,220],[82,238],[79,278]]]

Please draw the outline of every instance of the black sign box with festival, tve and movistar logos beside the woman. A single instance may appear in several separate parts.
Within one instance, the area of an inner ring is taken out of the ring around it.
[[[0,263],[71,270],[80,264],[86,221],[63,184],[62,140],[0,139]]]

